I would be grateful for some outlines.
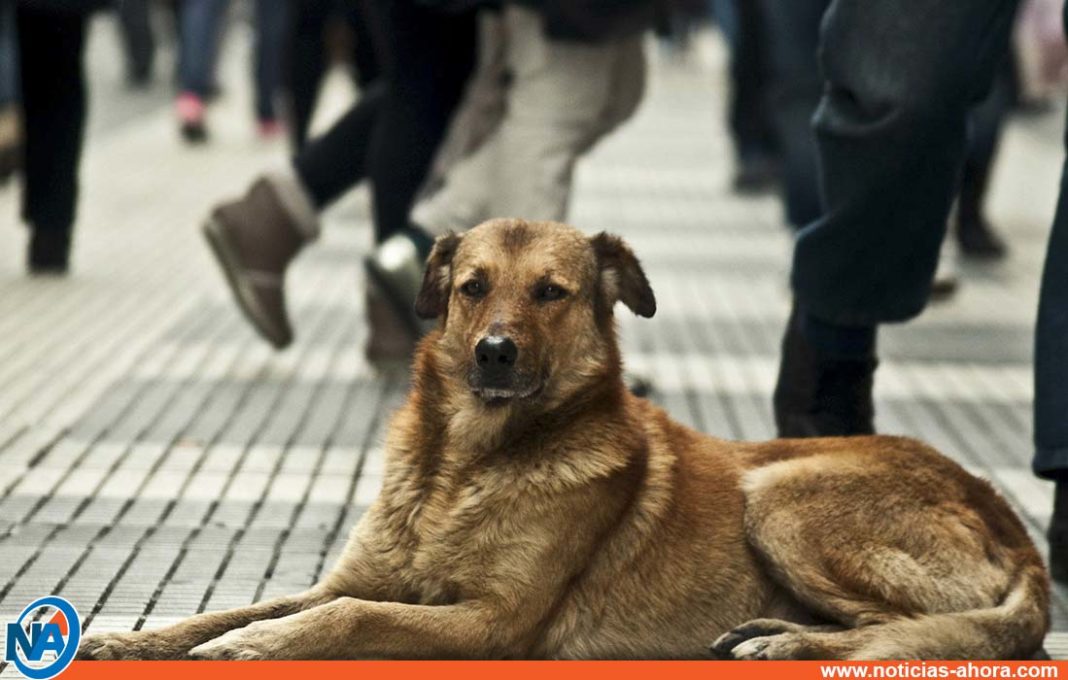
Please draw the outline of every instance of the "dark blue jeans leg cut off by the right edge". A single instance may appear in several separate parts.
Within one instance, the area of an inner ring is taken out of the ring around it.
[[[1068,146],[1068,138],[1065,143]],[[1032,466],[1040,477],[1068,478],[1068,164],[1061,177],[1038,302]]]

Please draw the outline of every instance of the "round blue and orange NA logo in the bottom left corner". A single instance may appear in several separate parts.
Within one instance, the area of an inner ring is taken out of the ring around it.
[[[47,680],[66,670],[80,641],[81,621],[74,605],[57,596],[38,598],[7,623],[4,660],[27,678]]]

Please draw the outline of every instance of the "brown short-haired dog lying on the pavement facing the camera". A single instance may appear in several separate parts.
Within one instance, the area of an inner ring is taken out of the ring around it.
[[[985,481],[918,442],[728,442],[627,393],[618,238],[496,220],[439,239],[440,317],[384,487],[304,594],[93,635],[83,658],[1010,659],[1042,562]]]

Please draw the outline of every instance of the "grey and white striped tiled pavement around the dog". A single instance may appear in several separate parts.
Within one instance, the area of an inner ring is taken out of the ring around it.
[[[366,194],[327,216],[293,270],[298,339],[284,353],[246,328],[200,240],[211,202],[284,159],[252,135],[247,36],[231,39],[214,141],[188,148],[162,84],[124,91],[112,27],[96,22],[68,279],[23,274],[16,190],[0,189],[0,621],[48,592],[92,630],[128,630],[302,588],[377,490],[405,379],[362,359]],[[660,311],[622,326],[657,399],[701,429],[759,439],[772,431],[789,238],[773,199],[727,189],[721,73],[705,41],[688,63],[658,62],[640,114],[582,163],[571,221],[624,235],[646,264]],[[955,299],[885,331],[877,389],[882,431],[993,479],[1036,539],[1051,489],[1027,468],[1031,336],[1058,117],[1008,131],[992,215],[1011,258],[964,268]],[[1055,628],[1068,631],[1064,591]],[[1068,633],[1049,647],[1068,655]]]

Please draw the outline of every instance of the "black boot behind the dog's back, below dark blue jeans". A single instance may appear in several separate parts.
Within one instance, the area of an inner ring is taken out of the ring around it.
[[[875,433],[871,389],[875,357],[821,357],[801,332],[797,307],[783,336],[775,385],[779,437],[851,437]]]

